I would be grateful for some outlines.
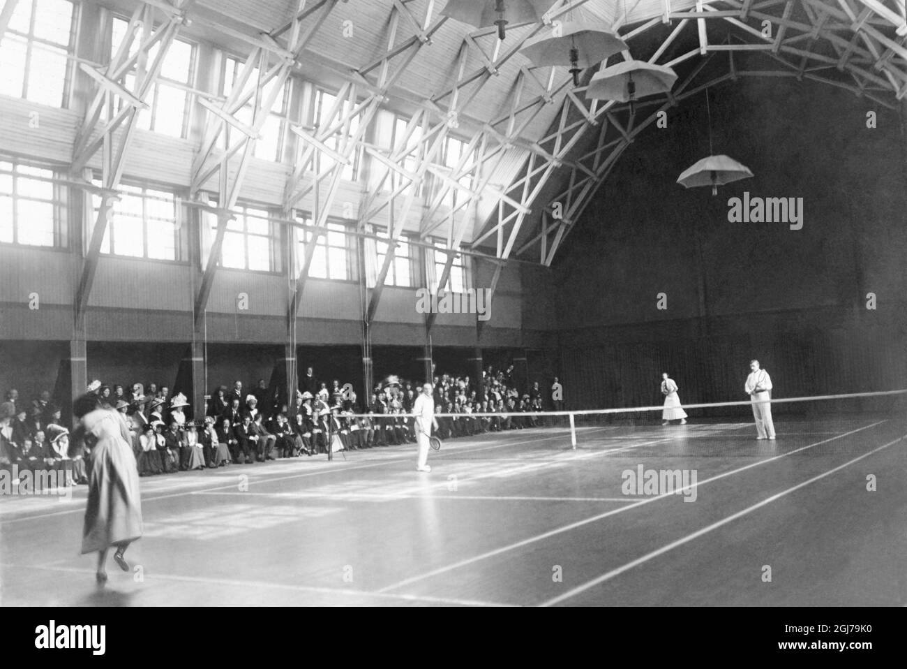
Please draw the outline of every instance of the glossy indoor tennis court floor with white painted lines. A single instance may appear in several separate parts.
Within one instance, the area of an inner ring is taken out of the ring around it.
[[[576,449],[569,430],[529,428],[447,441],[421,477],[414,447],[391,447],[146,479],[138,571],[112,572],[104,590],[91,556],[71,548],[83,491],[22,498],[0,511],[3,601],[907,603],[907,536],[893,531],[907,521],[903,413],[775,427],[768,441],[751,422],[714,418],[580,425]],[[639,466],[695,470],[695,497],[624,494],[622,473]]]

